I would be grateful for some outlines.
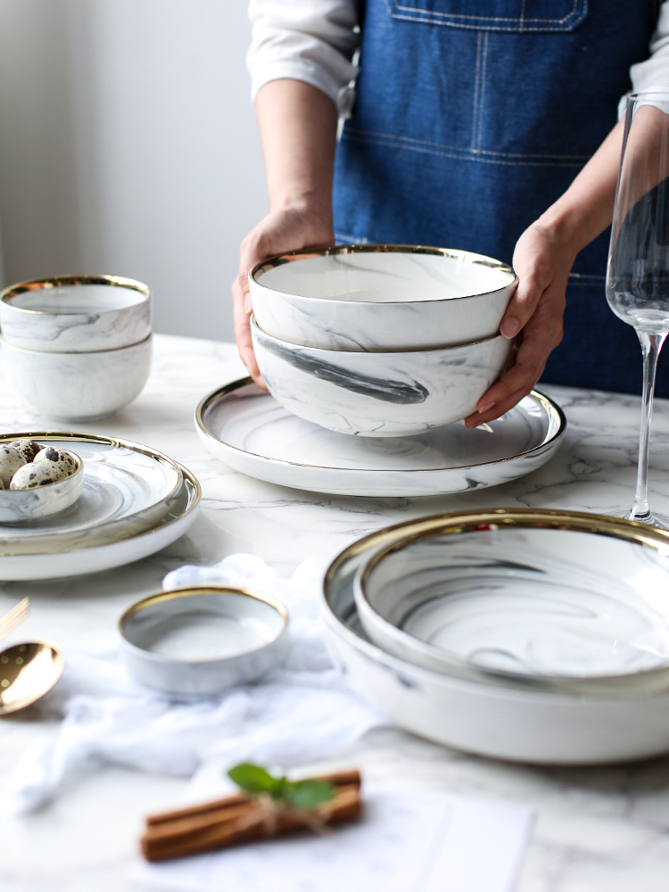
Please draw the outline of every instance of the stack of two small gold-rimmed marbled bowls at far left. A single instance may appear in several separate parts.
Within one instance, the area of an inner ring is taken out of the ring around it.
[[[4,368],[40,415],[108,417],[136,399],[151,368],[151,293],[134,279],[34,279],[0,294]]]

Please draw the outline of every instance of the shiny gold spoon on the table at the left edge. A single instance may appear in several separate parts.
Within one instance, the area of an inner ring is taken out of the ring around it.
[[[61,651],[47,641],[14,644],[0,653],[0,715],[31,706],[62,675]]]

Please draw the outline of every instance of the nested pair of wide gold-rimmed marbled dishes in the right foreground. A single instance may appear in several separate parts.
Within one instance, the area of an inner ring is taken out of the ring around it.
[[[453,747],[536,763],[669,750],[669,534],[566,511],[374,533],[326,575],[351,687]]]

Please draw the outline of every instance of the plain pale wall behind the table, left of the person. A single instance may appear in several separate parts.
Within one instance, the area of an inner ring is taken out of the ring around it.
[[[156,331],[232,339],[267,211],[249,39],[245,0],[0,0],[5,284],[134,277]]]

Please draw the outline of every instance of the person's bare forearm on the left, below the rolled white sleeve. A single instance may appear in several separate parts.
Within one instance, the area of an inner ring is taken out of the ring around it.
[[[337,113],[332,100],[300,80],[272,80],[256,97],[273,211],[309,208],[332,221]]]

